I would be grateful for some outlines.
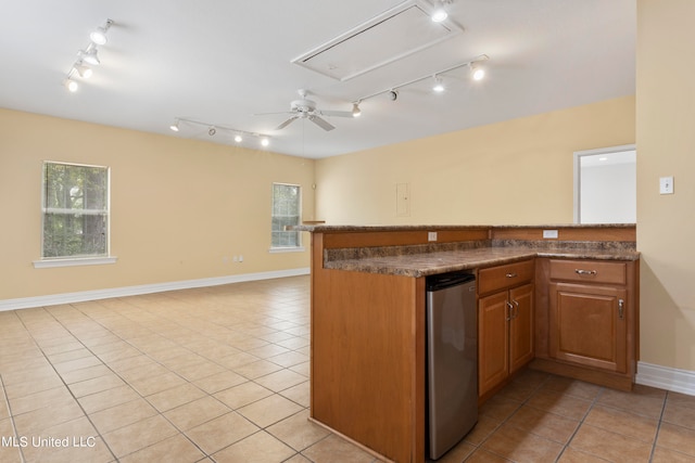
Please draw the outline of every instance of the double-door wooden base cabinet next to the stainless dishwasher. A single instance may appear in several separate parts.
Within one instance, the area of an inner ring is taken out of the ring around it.
[[[478,395],[533,359],[533,260],[478,272]]]

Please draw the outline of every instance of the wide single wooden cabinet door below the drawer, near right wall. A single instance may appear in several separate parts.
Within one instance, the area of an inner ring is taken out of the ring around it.
[[[618,373],[627,371],[627,291],[551,284],[549,355]]]

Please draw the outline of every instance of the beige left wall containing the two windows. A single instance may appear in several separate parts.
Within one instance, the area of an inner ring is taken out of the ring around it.
[[[117,263],[33,267],[45,159],[111,167]],[[301,184],[313,218],[313,159],[0,110],[0,299],[306,268],[268,253],[273,182]]]

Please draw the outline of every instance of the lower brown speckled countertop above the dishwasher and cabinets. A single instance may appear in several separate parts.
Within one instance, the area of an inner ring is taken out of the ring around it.
[[[542,249],[529,246],[488,246],[325,260],[324,268],[419,278],[457,270],[492,267],[533,257],[636,260],[640,258],[640,253],[629,249]]]

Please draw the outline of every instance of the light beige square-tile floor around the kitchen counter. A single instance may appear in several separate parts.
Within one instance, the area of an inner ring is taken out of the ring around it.
[[[308,305],[296,276],[0,312],[0,462],[378,461],[306,420]],[[440,461],[695,462],[695,397],[527,371]]]

